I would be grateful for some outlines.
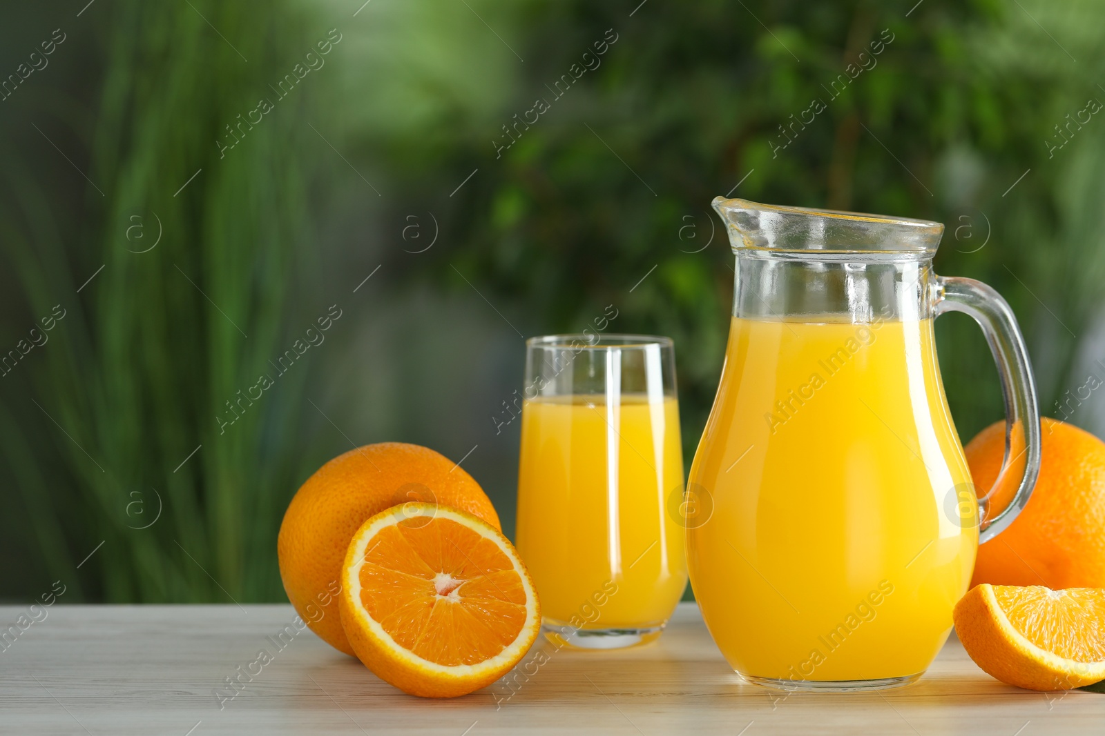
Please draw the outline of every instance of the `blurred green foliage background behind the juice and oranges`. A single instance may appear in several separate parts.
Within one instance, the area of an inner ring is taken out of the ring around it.
[[[513,533],[523,337],[607,305],[675,339],[690,466],[732,298],[718,194],[946,223],[937,270],[998,288],[1045,413],[1103,434],[1101,397],[1071,399],[1105,376],[1103,11],[6,9],[0,598],[283,600],[288,499],[372,441],[471,451]],[[937,337],[966,441],[1001,416],[997,374],[968,318]]]

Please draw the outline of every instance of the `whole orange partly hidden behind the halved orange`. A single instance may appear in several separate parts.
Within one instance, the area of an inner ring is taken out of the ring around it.
[[[385,509],[407,502],[453,506],[499,530],[495,506],[463,468],[404,442],[366,445],[339,455],[296,491],[276,538],[288,600],[312,631],[354,655],[341,629],[341,563],[354,533]]]

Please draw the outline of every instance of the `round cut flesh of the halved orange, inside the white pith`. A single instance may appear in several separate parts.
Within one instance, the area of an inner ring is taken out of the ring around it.
[[[369,617],[403,649],[445,666],[495,657],[526,621],[526,594],[511,558],[451,519],[380,530],[359,577]]]

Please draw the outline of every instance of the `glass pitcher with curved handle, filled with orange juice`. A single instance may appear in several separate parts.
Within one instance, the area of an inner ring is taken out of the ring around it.
[[[935,222],[714,200],[733,321],[685,504],[691,583],[746,680],[786,690],[915,681],[980,542],[1028,502],[1040,417],[1023,339],[990,287],[933,273]],[[933,339],[974,317],[998,363],[1007,452],[977,494]]]

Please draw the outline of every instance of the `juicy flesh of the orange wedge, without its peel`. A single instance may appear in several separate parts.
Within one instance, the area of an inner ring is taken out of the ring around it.
[[[1105,589],[993,586],[993,596],[1040,649],[1075,662],[1105,661]]]

